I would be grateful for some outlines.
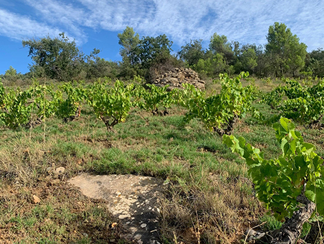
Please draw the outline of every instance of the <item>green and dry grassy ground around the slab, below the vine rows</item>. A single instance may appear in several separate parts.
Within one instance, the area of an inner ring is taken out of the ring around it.
[[[275,113],[256,106],[269,117]],[[118,221],[104,201],[67,185],[81,172],[168,180],[161,200],[163,243],[240,243],[247,227],[266,221],[265,229],[278,228],[254,197],[245,162],[198,120],[183,124],[184,113],[176,106],[165,117],[133,109],[115,126],[117,133],[107,133],[88,106],[68,123],[51,118],[29,131],[1,127],[0,243],[127,243],[120,223],[110,229]],[[323,157],[323,131],[298,129]],[[265,158],[281,153],[271,126],[252,118],[236,124],[234,135]],[[65,172],[57,176],[49,167]],[[33,195],[41,202],[33,203]]]

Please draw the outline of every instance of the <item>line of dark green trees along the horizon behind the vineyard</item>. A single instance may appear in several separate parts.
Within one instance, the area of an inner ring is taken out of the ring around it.
[[[68,81],[72,79],[132,79],[136,75],[154,79],[172,68],[188,67],[202,77],[218,77],[248,71],[256,77],[324,77],[324,50],[307,53],[307,46],[293,35],[285,24],[275,22],[269,27],[267,44],[240,44],[228,41],[216,32],[208,48],[202,39],[190,40],[181,50],[172,54],[172,41],[166,35],[139,37],[133,28],[126,27],[118,34],[121,62],[99,57],[94,48],[85,55],[76,42],[64,35],[22,41],[29,48],[32,59],[30,72],[17,74],[10,66],[1,78],[14,81],[30,77],[47,77]]]

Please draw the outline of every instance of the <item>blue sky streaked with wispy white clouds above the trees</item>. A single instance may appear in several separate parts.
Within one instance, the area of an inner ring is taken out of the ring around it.
[[[241,44],[265,44],[269,26],[284,23],[308,51],[324,48],[323,0],[0,0],[0,73],[28,72],[23,39],[65,32],[80,50],[93,48],[118,61],[117,34],[126,26],[140,37],[165,34],[176,52],[190,39],[205,46],[214,32]]]

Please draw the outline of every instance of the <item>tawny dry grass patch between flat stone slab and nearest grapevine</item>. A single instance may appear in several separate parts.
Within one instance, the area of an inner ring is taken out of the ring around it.
[[[247,178],[204,176],[209,189],[196,185],[172,185],[170,196],[163,199],[162,230],[165,238],[176,236],[183,243],[240,243],[249,225],[259,223],[265,210],[251,198]]]

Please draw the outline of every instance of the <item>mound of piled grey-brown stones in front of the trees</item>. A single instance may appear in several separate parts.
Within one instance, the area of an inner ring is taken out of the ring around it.
[[[182,84],[185,83],[192,84],[196,88],[205,90],[205,82],[201,80],[198,74],[192,71],[191,68],[174,68],[174,71],[164,73],[153,82],[156,86],[169,85],[168,90],[183,88]]]

